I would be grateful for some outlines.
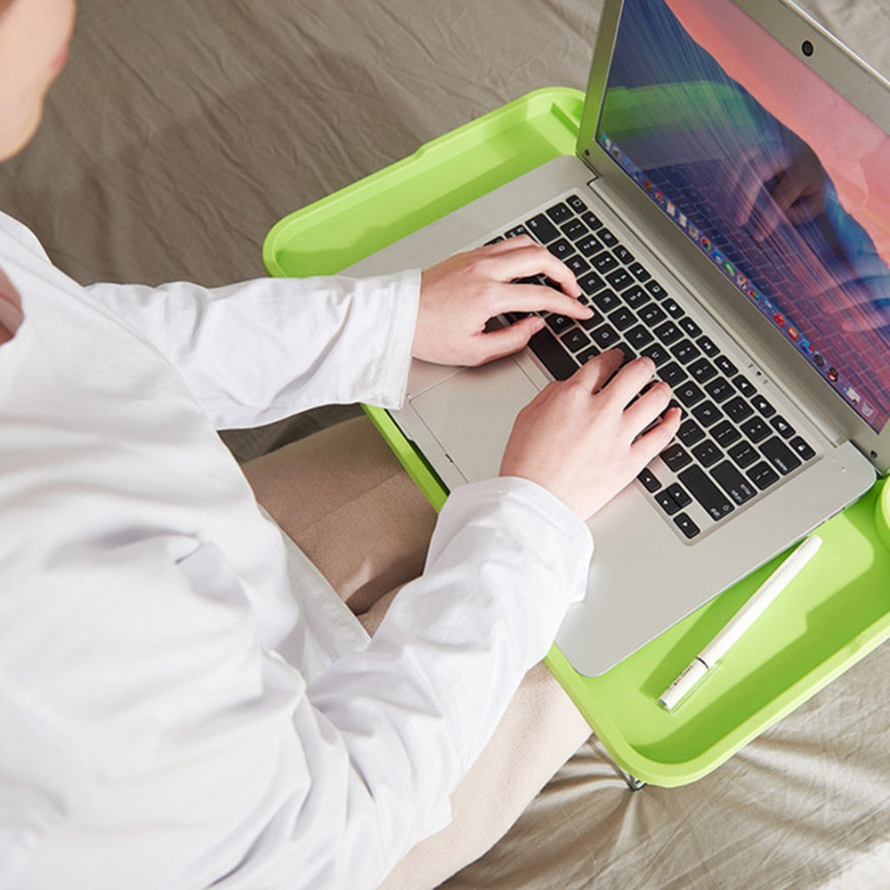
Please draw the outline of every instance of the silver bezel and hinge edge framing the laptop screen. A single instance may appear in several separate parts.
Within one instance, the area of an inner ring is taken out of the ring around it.
[[[876,433],[854,409],[845,404],[837,391],[821,379],[809,361],[765,319],[713,263],[702,263],[704,255],[666,214],[653,212],[654,206],[643,190],[619,168],[596,142],[603,95],[611,65],[625,0],[605,0],[593,62],[587,84],[587,100],[578,132],[577,154],[591,169],[597,194],[620,216],[645,219],[643,239],[651,243],[659,257],[669,257],[669,270],[688,287],[691,295],[708,294],[701,303],[718,323],[748,354],[756,352],[754,373],[771,381],[789,397],[805,405],[821,431],[835,443],[853,441],[878,473],[890,470],[890,422]],[[797,6],[783,0],[729,0],[776,36],[790,52],[804,59],[832,85],[843,82],[845,98],[890,133],[890,82],[870,68],[851,50],[831,36]],[[752,12],[754,14],[752,14]],[[816,52],[806,57],[803,41],[816,45]],[[837,87],[836,87],[837,88]],[[838,90],[837,92],[840,92]],[[868,111],[862,108],[868,102]],[[622,207],[626,212],[622,213]],[[748,348],[750,344],[750,348]]]

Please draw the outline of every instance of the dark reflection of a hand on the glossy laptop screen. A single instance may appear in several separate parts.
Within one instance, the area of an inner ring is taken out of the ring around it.
[[[743,152],[729,180],[735,223],[763,241],[781,223],[800,225],[825,209],[827,182],[815,152],[802,140],[768,142]]]

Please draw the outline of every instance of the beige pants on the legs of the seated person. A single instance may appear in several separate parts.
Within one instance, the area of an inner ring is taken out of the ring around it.
[[[424,566],[435,513],[361,417],[251,461],[260,503],[373,634]],[[384,883],[439,885],[494,845],[590,728],[543,665],[530,670],[498,730],[451,798],[448,828],[418,844]]]

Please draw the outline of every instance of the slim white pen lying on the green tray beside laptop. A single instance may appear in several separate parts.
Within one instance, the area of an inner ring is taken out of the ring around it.
[[[766,578],[748,602],[732,616],[723,630],[700,651],[689,667],[661,694],[659,701],[668,711],[676,708],[684,695],[724,657],[739,637],[748,630],[748,627],[751,627],[756,619],[763,614],[765,608],[781,594],[785,587],[788,587],[791,580],[797,576],[806,563],[813,559],[821,545],[822,539],[818,535],[807,538],[769,578]]]

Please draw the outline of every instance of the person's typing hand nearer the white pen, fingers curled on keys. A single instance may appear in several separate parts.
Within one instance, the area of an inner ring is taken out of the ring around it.
[[[581,519],[614,498],[680,425],[676,408],[659,419],[670,388],[649,385],[652,361],[636,359],[616,374],[622,360],[619,350],[603,352],[539,392],[516,417],[500,474],[538,482]]]

